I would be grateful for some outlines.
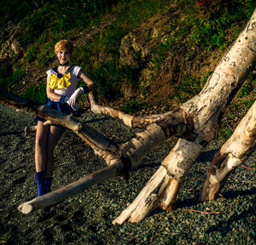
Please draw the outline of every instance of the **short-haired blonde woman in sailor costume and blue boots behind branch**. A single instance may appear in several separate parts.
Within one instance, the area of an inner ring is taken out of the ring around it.
[[[76,104],[79,94],[88,94],[96,89],[96,83],[84,74],[84,70],[80,66],[68,63],[72,53],[73,43],[70,41],[61,40],[55,44],[55,54],[60,64],[46,72],[47,100],[45,105],[76,116],[79,115],[79,105]],[[77,88],[79,80],[83,80],[86,86]],[[55,145],[60,140],[64,128],[58,124],[45,125],[46,120],[42,117],[36,117],[35,121],[38,122],[35,165],[39,197],[50,191],[54,171]]]

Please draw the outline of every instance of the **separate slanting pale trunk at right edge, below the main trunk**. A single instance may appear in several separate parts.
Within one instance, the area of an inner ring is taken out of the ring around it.
[[[256,102],[242,118],[229,140],[215,153],[201,191],[201,201],[213,200],[231,171],[241,165],[256,145]]]

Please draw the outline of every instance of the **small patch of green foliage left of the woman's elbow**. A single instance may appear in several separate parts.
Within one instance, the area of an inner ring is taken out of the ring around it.
[[[39,83],[38,85],[31,85],[29,88],[26,88],[26,91],[21,94],[22,97],[44,103],[46,100],[46,89],[45,83]]]

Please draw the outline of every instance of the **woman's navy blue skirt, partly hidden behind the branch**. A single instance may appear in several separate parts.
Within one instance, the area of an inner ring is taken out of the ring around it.
[[[81,116],[80,110],[79,111],[74,111],[72,109],[72,107],[67,105],[66,103],[61,104],[60,102],[55,102],[55,101],[47,99],[44,105],[47,105],[50,108],[55,109],[56,111],[61,111],[65,114],[67,114],[67,115],[70,115],[72,113],[74,117]],[[37,116],[35,118],[35,122],[38,122],[38,121],[46,122],[46,119],[44,119],[43,117]],[[59,128],[63,128],[60,124],[56,124],[56,123],[49,124],[49,125],[56,126],[56,127],[59,127]]]

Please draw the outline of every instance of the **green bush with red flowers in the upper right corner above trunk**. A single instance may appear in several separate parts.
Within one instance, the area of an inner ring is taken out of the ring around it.
[[[249,18],[255,3],[251,0],[199,0],[196,7],[195,21],[191,23],[190,45],[209,50],[227,46],[225,30]]]

